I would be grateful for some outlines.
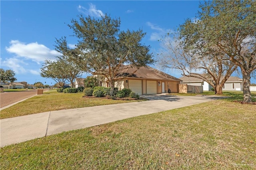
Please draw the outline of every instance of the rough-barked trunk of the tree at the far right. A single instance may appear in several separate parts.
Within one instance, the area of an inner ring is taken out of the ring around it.
[[[250,73],[243,73],[243,93],[244,93],[244,103],[251,103],[252,102],[252,95],[250,91],[250,79],[251,74]]]

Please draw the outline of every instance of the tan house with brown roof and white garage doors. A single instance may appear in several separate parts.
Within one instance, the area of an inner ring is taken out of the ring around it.
[[[132,65],[121,65],[116,77],[115,87],[119,89],[132,89],[138,95],[178,93],[180,79],[168,75],[152,67],[140,67],[138,70]],[[102,86],[108,87],[108,82]]]

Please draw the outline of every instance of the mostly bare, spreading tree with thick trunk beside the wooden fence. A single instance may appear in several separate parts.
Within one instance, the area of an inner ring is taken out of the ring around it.
[[[180,70],[183,76],[203,79],[212,85],[215,94],[222,94],[224,83],[237,68],[224,53],[217,50],[200,54],[184,50],[184,43],[175,34],[167,34],[160,42],[160,67]]]

